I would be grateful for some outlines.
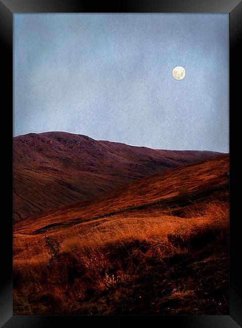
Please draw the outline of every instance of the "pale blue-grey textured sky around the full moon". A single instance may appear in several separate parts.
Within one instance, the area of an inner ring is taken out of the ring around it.
[[[228,152],[228,32],[228,14],[15,14],[14,136]]]

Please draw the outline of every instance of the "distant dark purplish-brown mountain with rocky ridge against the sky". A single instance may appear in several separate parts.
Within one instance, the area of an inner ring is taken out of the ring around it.
[[[66,132],[14,138],[14,221],[218,155],[97,141]]]

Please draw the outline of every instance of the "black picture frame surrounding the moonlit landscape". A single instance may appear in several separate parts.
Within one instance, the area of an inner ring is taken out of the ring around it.
[[[229,148],[230,148],[230,242],[229,242],[229,315],[158,315],[158,316],[68,316],[68,315],[13,315],[13,266],[12,266],[12,137],[13,137],[13,15],[16,13],[229,13],[230,17],[230,48],[229,48]],[[111,5],[100,3],[95,6],[90,1],[82,0],[0,0],[0,39],[2,42],[2,107],[5,118],[2,121],[7,128],[1,147],[4,156],[1,159],[2,174],[7,177],[4,188],[3,204],[6,214],[2,217],[2,260],[1,289],[0,289],[0,325],[10,327],[51,327],[55,325],[72,326],[122,326],[124,324],[140,323],[153,326],[158,324],[167,327],[192,328],[237,328],[242,326],[242,292],[241,272],[239,271],[240,236],[238,228],[239,211],[239,163],[236,154],[236,140],[239,139],[239,96],[241,82],[236,81],[238,67],[242,58],[239,50],[242,35],[242,2],[239,0],[143,0],[120,1]],[[4,98],[4,99],[3,99]],[[5,101],[4,101],[5,100]]]

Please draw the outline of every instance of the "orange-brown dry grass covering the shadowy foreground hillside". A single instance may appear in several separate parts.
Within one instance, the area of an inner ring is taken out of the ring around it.
[[[227,314],[228,204],[14,236],[15,314]]]

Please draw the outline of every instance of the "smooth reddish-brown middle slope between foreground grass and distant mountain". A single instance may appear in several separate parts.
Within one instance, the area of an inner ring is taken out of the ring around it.
[[[15,233],[38,234],[72,227],[102,217],[137,211],[142,217],[164,207],[173,207],[212,196],[228,195],[229,155],[144,177],[86,201],[60,206],[15,224]],[[186,195],[183,195],[183,194]],[[129,213],[129,214],[128,214]],[[131,213],[131,214],[130,214]],[[122,214],[123,215],[123,214]]]

